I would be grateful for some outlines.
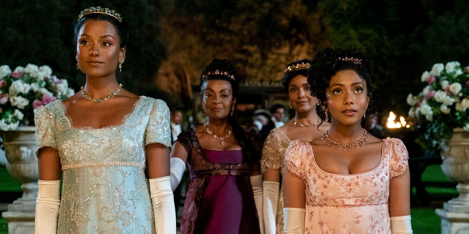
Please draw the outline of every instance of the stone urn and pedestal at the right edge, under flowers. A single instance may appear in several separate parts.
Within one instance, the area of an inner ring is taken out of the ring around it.
[[[453,137],[441,147],[441,169],[450,179],[458,182],[455,197],[437,209],[441,216],[441,233],[469,233],[469,132],[455,128]]]

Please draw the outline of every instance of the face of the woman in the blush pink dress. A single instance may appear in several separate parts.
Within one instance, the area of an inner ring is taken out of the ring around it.
[[[332,124],[336,121],[343,125],[361,123],[370,98],[365,80],[356,72],[345,70],[333,75],[325,95]]]

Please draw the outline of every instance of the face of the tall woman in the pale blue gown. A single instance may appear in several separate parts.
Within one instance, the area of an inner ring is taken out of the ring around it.
[[[107,21],[88,20],[78,32],[76,59],[78,67],[89,76],[115,73],[120,61],[125,60],[125,47],[114,26]]]

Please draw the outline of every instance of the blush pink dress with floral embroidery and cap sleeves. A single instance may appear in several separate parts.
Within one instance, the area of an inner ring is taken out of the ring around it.
[[[377,168],[337,175],[318,167],[310,142],[292,141],[285,165],[306,185],[305,234],[391,234],[389,182],[408,167],[408,153],[400,139],[383,139],[382,152]]]

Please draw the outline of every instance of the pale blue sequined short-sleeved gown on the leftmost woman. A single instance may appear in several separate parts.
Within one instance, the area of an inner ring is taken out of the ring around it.
[[[58,149],[63,170],[58,233],[153,234],[144,146],[170,147],[169,110],[141,96],[120,126],[75,128],[61,100],[38,108],[37,146]]]

